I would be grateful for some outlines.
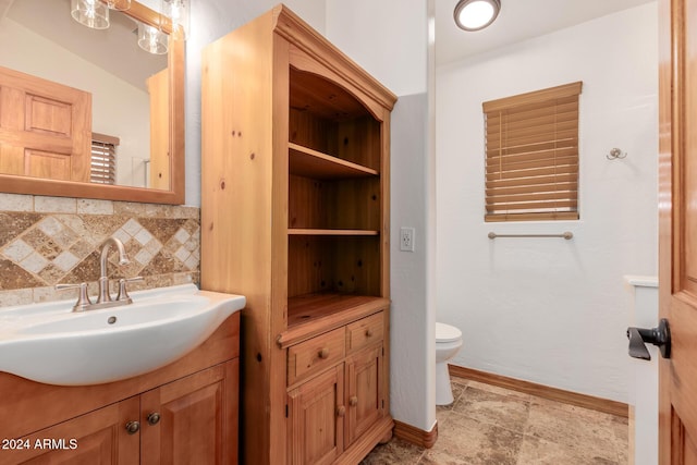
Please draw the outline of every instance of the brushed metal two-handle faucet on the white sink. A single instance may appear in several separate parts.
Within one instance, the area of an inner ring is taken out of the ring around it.
[[[91,303],[89,299],[89,295],[87,295],[87,283],[83,282],[80,284],[56,284],[56,289],[61,291],[64,289],[78,289],[80,295],[77,297],[77,303],[73,306],[73,311],[85,311],[85,310],[95,310],[98,308],[108,308],[108,307],[119,307],[121,305],[129,305],[133,303],[131,296],[126,292],[126,283],[131,281],[142,281],[143,277],[135,277],[130,279],[120,279],[119,280],[119,293],[117,294],[117,299],[111,298],[111,293],[109,292],[109,278],[107,277],[107,262],[109,260],[109,249],[114,245],[117,250],[119,252],[119,265],[127,265],[130,264],[129,257],[126,256],[126,249],[123,246],[123,242],[121,242],[117,237],[109,237],[103,245],[101,246],[101,257],[99,261],[99,294],[97,295],[97,302]]]

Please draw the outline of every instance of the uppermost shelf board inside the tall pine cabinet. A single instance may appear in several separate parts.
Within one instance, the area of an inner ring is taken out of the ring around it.
[[[377,170],[371,168],[342,160],[297,144],[289,143],[288,147],[291,174],[319,180],[365,178],[379,174]]]

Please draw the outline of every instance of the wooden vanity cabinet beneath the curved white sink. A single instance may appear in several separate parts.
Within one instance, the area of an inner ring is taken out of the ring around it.
[[[235,464],[239,346],[236,313],[188,355],[123,381],[58,387],[0,374],[0,463]]]

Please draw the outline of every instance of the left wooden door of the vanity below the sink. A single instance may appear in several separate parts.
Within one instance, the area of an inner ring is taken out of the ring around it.
[[[132,465],[138,463],[138,431],[125,425],[137,421],[138,396],[42,429],[0,451],[2,464]]]

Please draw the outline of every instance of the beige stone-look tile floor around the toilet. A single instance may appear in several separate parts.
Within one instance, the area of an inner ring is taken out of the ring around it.
[[[362,465],[627,464],[626,418],[463,378],[452,386],[455,401],[436,411],[432,449],[392,439]]]

